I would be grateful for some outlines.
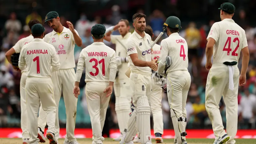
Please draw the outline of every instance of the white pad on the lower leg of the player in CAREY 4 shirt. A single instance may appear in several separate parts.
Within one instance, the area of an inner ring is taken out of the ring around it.
[[[182,142],[182,140],[181,140],[181,130],[179,128],[178,117],[176,116],[173,109],[171,109],[171,121],[172,121],[172,124],[173,124],[173,129],[174,129],[174,132],[175,132],[175,138],[177,139],[177,143],[181,144],[181,142]]]

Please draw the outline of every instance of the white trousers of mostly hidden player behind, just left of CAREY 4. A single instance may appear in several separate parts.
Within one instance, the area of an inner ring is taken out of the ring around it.
[[[150,108],[153,114],[154,134],[164,132],[163,113],[162,113],[162,88],[155,85],[151,79],[152,92],[150,96]]]

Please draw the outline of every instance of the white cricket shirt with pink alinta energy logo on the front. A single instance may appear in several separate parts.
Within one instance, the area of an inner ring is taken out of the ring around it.
[[[77,33],[76,30],[75,32]],[[60,69],[71,69],[75,67],[75,40],[72,32],[68,28],[63,27],[60,34],[53,30],[44,36],[44,41],[55,47],[60,57]]]

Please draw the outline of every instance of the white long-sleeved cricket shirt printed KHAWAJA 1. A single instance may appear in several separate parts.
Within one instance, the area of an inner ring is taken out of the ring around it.
[[[26,68],[27,65],[27,68]],[[60,69],[59,56],[53,45],[35,38],[22,47],[19,68],[27,69],[27,77],[50,78],[53,69]]]

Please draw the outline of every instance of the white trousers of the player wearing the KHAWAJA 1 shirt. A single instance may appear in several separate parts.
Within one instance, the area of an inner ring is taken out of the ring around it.
[[[54,100],[54,86],[51,78],[29,77],[26,80],[26,101],[29,118],[29,142],[39,142],[37,138],[37,115],[42,102],[42,108],[46,112],[46,121],[48,124],[47,132],[56,133],[54,129],[56,116],[56,103]]]

